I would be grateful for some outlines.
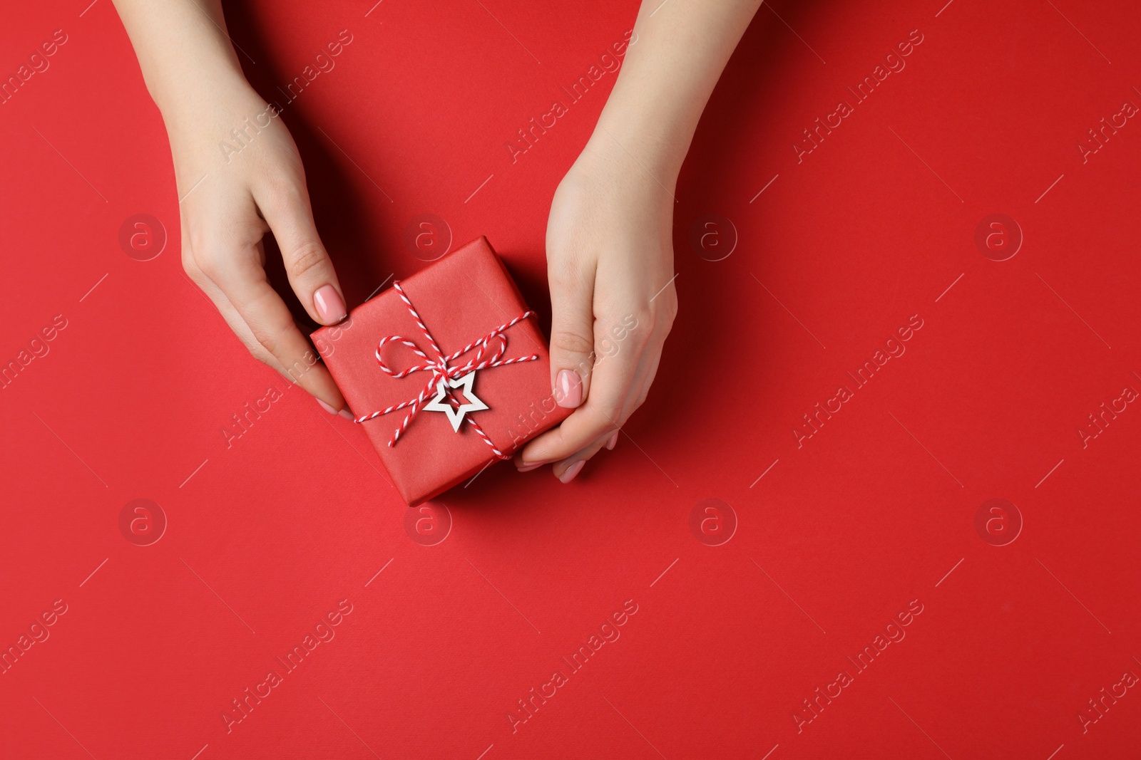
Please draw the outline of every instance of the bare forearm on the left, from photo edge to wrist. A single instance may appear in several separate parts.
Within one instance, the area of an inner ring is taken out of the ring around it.
[[[221,0],[114,0],[147,90],[167,117],[195,113],[217,98],[216,85],[244,82],[226,34]]]

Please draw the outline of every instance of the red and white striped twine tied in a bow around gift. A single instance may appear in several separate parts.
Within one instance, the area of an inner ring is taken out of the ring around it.
[[[535,316],[534,311],[525,311],[515,319],[512,319],[511,321],[500,325],[495,329],[491,330],[482,338],[472,341],[471,343],[463,346],[459,351],[445,356],[444,352],[440,351],[439,345],[437,345],[436,338],[432,337],[432,334],[428,332],[428,327],[424,325],[423,320],[420,319],[420,314],[416,313],[415,308],[412,305],[412,301],[410,301],[407,294],[404,293],[404,288],[400,287],[400,281],[394,280],[393,287],[396,289],[396,293],[404,301],[404,305],[408,308],[408,313],[412,314],[412,319],[415,320],[416,326],[420,328],[420,332],[423,333],[424,338],[427,338],[428,345],[431,346],[432,356],[429,357],[427,353],[420,350],[419,345],[416,345],[408,338],[404,337],[403,335],[388,335],[386,337],[382,337],[380,340],[380,343],[377,344],[377,363],[380,365],[380,370],[386,375],[388,375],[389,377],[393,377],[394,379],[399,379],[402,377],[407,377],[412,373],[418,373],[418,371],[431,373],[431,379],[428,381],[423,390],[421,390],[420,394],[416,395],[415,398],[408,399],[403,403],[394,404],[391,407],[388,407],[387,409],[374,411],[371,415],[357,417],[356,419],[353,420],[356,423],[364,423],[370,419],[380,417],[381,415],[387,415],[390,411],[397,411],[399,409],[408,409],[408,414],[404,417],[404,422],[402,422],[400,426],[396,428],[396,432],[393,433],[391,440],[389,440],[388,442],[388,446],[390,447],[395,447],[396,442],[400,440],[400,435],[407,428],[408,423],[411,423],[413,417],[415,417],[416,414],[421,410],[424,400],[437,392],[437,387],[440,386],[442,381],[459,379],[460,377],[463,377],[469,373],[474,373],[480,369],[489,369],[492,367],[503,367],[507,365],[513,365],[518,361],[535,361],[536,359],[539,359],[537,354],[532,354],[529,357],[518,357],[516,359],[503,359],[503,354],[507,353],[507,335],[504,335],[504,333],[509,328],[521,322],[524,319],[534,317]],[[394,342],[400,343],[402,345],[412,349],[412,351],[415,352],[424,361],[422,363],[413,365],[412,367],[407,367],[399,371],[394,370],[391,367],[388,366],[388,363],[385,362],[385,359],[380,356],[380,350],[385,346],[385,344]],[[452,366],[451,362],[455,361],[456,359],[467,353],[470,353],[471,351],[475,351],[476,353],[472,358],[468,359],[466,363],[459,366]],[[443,383],[443,387],[448,403],[451,403],[453,407],[458,406],[459,402],[452,395],[452,389],[448,386],[447,382]],[[492,440],[487,436],[487,433],[484,432],[484,428],[480,427],[479,423],[472,419],[470,415],[466,416],[464,419],[471,423],[471,426],[476,428],[476,432],[479,434],[479,438],[483,439],[484,443],[491,447],[492,452],[494,452],[494,455],[497,458],[500,459],[510,458],[510,455],[503,453],[502,451],[499,450],[499,448],[494,443],[492,443]]]

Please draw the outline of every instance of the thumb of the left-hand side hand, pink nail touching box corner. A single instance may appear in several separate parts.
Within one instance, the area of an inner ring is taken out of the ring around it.
[[[345,296],[333,262],[317,235],[305,180],[257,201],[277,239],[293,293],[309,317],[322,325],[345,319]]]

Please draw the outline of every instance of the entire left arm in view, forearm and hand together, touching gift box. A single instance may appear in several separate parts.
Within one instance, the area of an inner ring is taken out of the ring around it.
[[[250,353],[351,418],[341,392],[266,277],[273,232],[293,293],[314,320],[346,316],[313,223],[301,157],[254,92],[226,32],[221,0],[114,0],[170,137],[183,267]]]

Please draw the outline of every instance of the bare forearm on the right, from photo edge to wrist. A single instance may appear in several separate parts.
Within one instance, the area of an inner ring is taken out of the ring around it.
[[[702,111],[760,0],[645,0],[591,147],[617,142],[677,179]]]

